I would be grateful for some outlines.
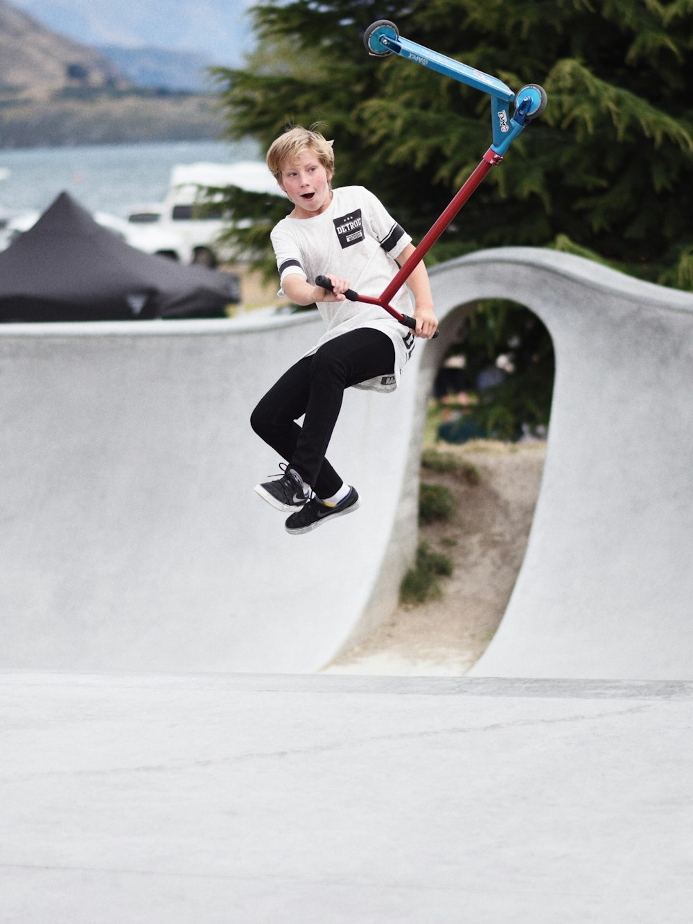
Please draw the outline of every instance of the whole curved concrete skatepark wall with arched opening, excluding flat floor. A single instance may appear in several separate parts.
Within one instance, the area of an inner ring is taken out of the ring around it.
[[[0,666],[310,672],[391,612],[416,546],[420,433],[468,306],[513,298],[556,352],[528,552],[480,675],[691,675],[693,297],[577,257],[432,271],[442,335],[330,450],[355,517],[289,537],[249,412],[312,315],[0,330]]]

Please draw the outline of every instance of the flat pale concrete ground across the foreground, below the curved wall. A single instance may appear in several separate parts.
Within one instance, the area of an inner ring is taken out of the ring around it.
[[[693,683],[0,688],[3,924],[693,919]]]

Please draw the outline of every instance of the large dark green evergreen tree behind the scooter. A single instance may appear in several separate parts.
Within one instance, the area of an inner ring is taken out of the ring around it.
[[[397,55],[367,55],[370,23],[392,19],[407,38],[515,90],[545,88],[546,111],[429,262],[505,244],[571,248],[688,285],[689,0],[264,0],[251,16],[258,51],[243,69],[213,72],[228,136],[266,148],[288,124],[324,123],[335,182],[372,188],[415,238],[491,143],[488,97]],[[261,232],[253,234],[260,257]]]

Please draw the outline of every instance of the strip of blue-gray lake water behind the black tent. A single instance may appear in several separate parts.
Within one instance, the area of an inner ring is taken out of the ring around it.
[[[161,201],[175,164],[248,159],[262,159],[252,140],[0,150],[0,207],[43,212],[68,192],[91,212],[125,214],[129,206]]]

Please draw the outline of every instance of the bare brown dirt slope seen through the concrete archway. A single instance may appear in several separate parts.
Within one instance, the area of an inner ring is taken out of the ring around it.
[[[448,555],[452,577],[440,599],[400,605],[358,647],[325,668],[333,674],[463,675],[493,637],[525,556],[541,485],[545,444],[441,444],[479,473],[422,469],[421,480],[453,493],[456,514],[419,529],[419,540]]]

